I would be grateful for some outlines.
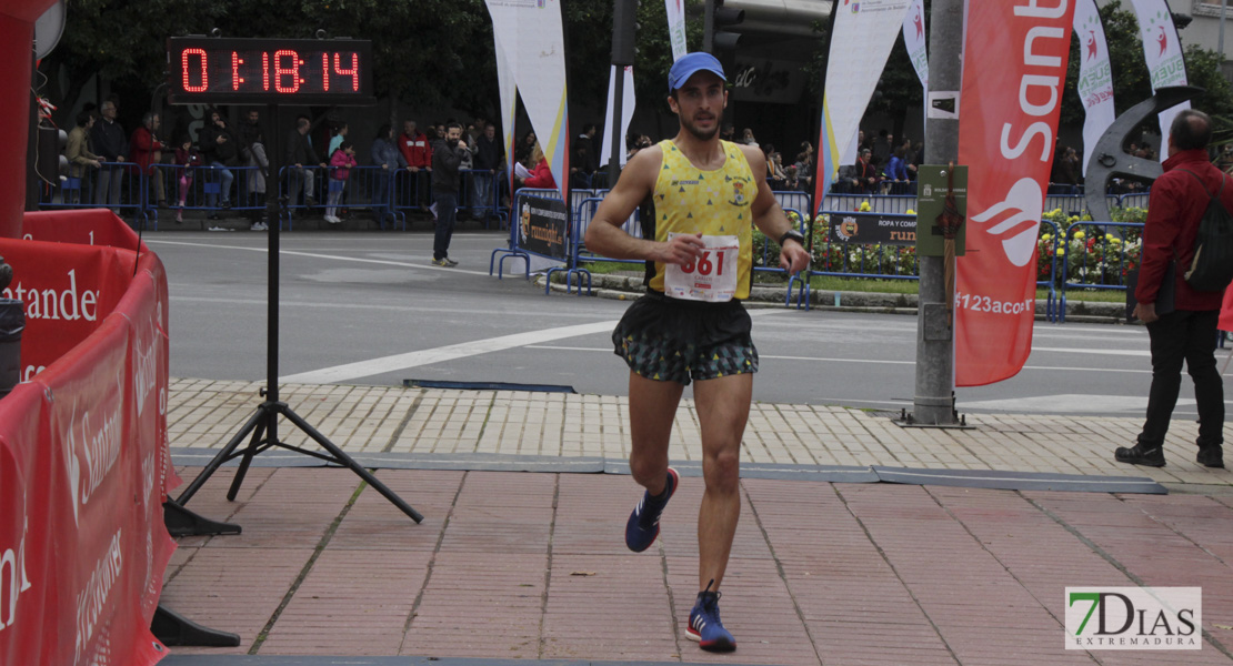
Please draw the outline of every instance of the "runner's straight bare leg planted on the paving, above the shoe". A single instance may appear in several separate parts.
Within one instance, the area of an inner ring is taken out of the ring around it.
[[[633,395],[630,390],[630,395]],[[702,471],[707,489],[698,511],[698,590],[719,590],[741,516],[741,437],[750,417],[753,374],[694,382],[702,423]],[[630,410],[633,411],[633,401]]]

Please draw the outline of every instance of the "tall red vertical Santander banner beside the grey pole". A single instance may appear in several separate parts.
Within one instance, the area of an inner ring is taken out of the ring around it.
[[[1036,240],[1074,10],[1071,0],[968,2],[959,164],[973,177],[956,272],[959,387],[1009,379],[1032,352]]]

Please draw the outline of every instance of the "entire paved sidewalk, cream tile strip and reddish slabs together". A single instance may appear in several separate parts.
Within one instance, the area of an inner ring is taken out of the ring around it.
[[[221,446],[259,385],[174,380],[171,447]],[[620,398],[340,385],[282,387],[282,398],[358,454],[619,459],[628,447]],[[425,515],[414,524],[348,470],[254,468],[228,502],[233,471],[223,468],[189,507],[244,532],[180,539],[163,601],[243,644],[178,648],[166,664],[1233,664],[1233,473],[1194,463],[1194,423],[1174,423],[1169,467],[1150,470],[1110,460],[1137,419],[969,422],[901,430],[859,410],[763,404],[742,453],[797,465],[1152,476],[1171,494],[742,479],[721,604],[739,650],[725,656],[683,632],[698,585],[700,479],[683,480],[661,539],[633,554],[621,536],[639,491],[623,475],[377,471]],[[695,460],[692,403],[676,437],[671,458]],[[181,468],[186,480],[197,471]],[[1202,649],[1064,650],[1064,587],[1134,585],[1203,587]]]

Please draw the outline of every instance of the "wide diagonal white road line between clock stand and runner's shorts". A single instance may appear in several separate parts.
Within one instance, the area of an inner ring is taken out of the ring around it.
[[[279,380],[301,384],[348,382],[361,377],[371,377],[374,374],[386,372],[416,368],[419,366],[428,366],[430,363],[440,363],[443,361],[454,361],[456,358],[465,358],[467,356],[476,356],[480,353],[525,347],[526,345],[534,345],[536,342],[547,342],[551,340],[561,340],[563,337],[612,331],[615,326],[616,321],[597,321],[594,324],[578,324],[576,326],[561,326],[557,329],[544,329],[539,331],[504,335],[501,337],[490,337],[487,340],[461,342],[459,345],[446,345],[434,350],[420,350],[417,352],[399,353],[382,358],[372,358],[369,361],[359,361],[356,363],[322,368],[318,371],[302,372],[298,374],[280,377]]]

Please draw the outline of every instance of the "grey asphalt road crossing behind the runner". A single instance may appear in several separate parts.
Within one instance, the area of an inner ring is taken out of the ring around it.
[[[284,380],[401,384],[404,379],[563,384],[623,395],[628,371],[609,334],[628,303],[544,295],[519,276],[488,276],[497,231],[454,236],[456,268],[432,266],[432,234],[281,235]],[[266,375],[266,235],[149,233],[168,270],[171,374]],[[508,262],[507,262],[508,263]],[[958,390],[962,412],[1143,414],[1150,383],[1139,326],[1037,323],[1015,378]],[[916,319],[834,311],[755,311],[764,403],[911,407]],[[1224,351],[1217,351],[1223,357]],[[1175,415],[1194,416],[1184,382]]]

